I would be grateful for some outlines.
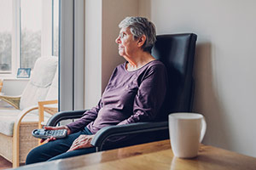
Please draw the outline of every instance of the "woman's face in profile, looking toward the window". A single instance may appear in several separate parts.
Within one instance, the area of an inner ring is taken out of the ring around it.
[[[133,38],[129,27],[120,30],[115,42],[119,44],[119,55],[123,57],[132,56],[138,50],[138,41]]]

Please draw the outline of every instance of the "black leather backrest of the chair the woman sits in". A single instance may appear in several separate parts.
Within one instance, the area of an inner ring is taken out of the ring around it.
[[[191,111],[194,94],[193,65],[195,42],[193,33],[157,36],[152,55],[166,65],[168,93],[159,119],[172,112]]]

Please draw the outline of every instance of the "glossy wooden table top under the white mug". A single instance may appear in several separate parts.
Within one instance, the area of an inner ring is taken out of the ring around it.
[[[37,163],[18,169],[255,170],[256,158],[202,144],[199,155],[194,159],[179,159],[173,156],[170,141],[163,140],[117,150]]]

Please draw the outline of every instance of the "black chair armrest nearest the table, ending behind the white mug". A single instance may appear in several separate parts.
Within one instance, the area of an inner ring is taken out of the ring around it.
[[[117,125],[111,127],[103,127],[99,130],[94,138],[91,140],[90,144],[96,146],[97,150],[102,150],[102,146],[106,139],[134,133],[147,133],[159,130],[168,129],[168,122],[137,122],[126,125]]]

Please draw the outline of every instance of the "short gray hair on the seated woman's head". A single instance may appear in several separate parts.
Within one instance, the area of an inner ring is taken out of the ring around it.
[[[146,41],[143,44],[143,51],[151,53],[151,49],[156,41],[155,26],[148,19],[143,17],[126,17],[119,23],[119,28],[129,27],[131,34],[135,39],[146,36]]]

